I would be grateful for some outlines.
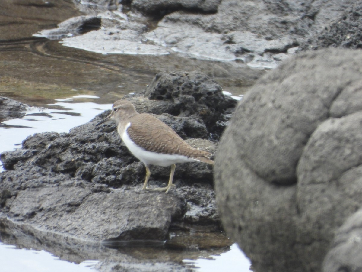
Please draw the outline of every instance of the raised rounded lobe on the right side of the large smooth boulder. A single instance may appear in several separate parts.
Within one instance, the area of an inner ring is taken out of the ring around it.
[[[362,124],[358,111],[325,120],[310,136],[296,169],[298,209],[308,215],[306,230],[313,233],[317,226],[318,237],[327,242],[361,205],[362,135],[356,124]]]

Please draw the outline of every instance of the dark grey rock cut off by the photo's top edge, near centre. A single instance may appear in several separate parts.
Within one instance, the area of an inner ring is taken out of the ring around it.
[[[180,10],[215,13],[220,2],[221,0],[132,0],[131,7],[146,15],[159,17]]]

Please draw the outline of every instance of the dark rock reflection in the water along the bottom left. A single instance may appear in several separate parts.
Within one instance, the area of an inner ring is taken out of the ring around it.
[[[100,260],[96,265],[99,271],[150,271],[152,266],[157,271],[191,271],[182,260],[198,259],[200,252],[197,250],[178,250],[175,252],[176,262],[170,260],[170,255],[165,254],[165,250],[183,241],[171,243],[167,248],[163,242],[138,241],[139,243],[119,243],[112,246],[105,246],[106,243],[95,243],[89,240],[79,240],[74,236],[64,236],[56,232],[44,232],[30,224],[14,223],[9,218],[0,217],[1,242],[5,244],[16,244],[20,248],[32,248],[34,250],[45,250],[55,256],[61,256],[62,260],[72,263],[81,263],[84,260]],[[173,232],[174,233],[174,232]],[[219,255],[225,252],[225,247],[230,245],[226,237],[220,235],[208,235],[202,232],[194,232],[193,237],[199,236],[199,239],[192,239],[203,244],[212,255]],[[174,237],[178,238],[178,237]],[[187,232],[184,233],[184,244],[189,244],[192,240],[187,239]],[[190,235],[188,236],[190,238]],[[197,238],[197,237],[196,237]],[[214,243],[215,241],[215,243]],[[209,244],[208,244],[209,243]],[[194,245],[190,245],[194,246]],[[196,244],[197,246],[197,244]],[[189,248],[189,247],[186,247]],[[193,247],[195,248],[195,247]],[[183,247],[185,249],[185,247]],[[151,257],[150,257],[151,256]],[[162,265],[162,263],[164,265]]]

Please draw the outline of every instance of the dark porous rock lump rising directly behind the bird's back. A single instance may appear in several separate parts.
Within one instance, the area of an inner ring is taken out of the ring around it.
[[[228,114],[236,105],[235,99],[222,93],[219,84],[198,71],[159,73],[144,95],[172,105],[165,111],[169,114],[195,115],[205,123],[211,139],[215,140],[219,139],[225,128],[224,122],[228,121]]]

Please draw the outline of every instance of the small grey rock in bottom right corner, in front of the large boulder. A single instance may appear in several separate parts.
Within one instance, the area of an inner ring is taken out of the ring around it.
[[[361,173],[361,169],[359,173]],[[324,272],[357,272],[362,270],[361,219],[362,210],[359,209],[338,229],[332,247],[323,262]]]

